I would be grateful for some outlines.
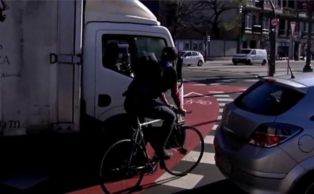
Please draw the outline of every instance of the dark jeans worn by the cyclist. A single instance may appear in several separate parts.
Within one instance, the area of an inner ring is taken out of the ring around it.
[[[131,115],[137,115],[139,117],[152,118],[152,119],[162,119],[163,132],[158,137],[159,140],[154,140],[156,145],[151,145],[155,151],[164,150],[164,144],[170,134],[171,129],[174,127],[176,114],[169,107],[160,103],[156,100],[135,100],[129,97],[126,97],[124,101],[124,108],[127,113]],[[155,138],[154,138],[155,139]],[[150,142],[151,143],[151,142]]]

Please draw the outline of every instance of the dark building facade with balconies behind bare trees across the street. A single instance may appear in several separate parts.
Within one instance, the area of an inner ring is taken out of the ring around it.
[[[173,33],[176,10],[180,3],[196,4],[199,1],[141,1],[158,18],[163,26]],[[270,52],[269,29],[272,8],[269,1],[217,1],[220,7],[229,10],[219,16],[219,38],[211,38],[205,46],[206,35],[212,35],[210,25],[205,25],[205,20],[213,15],[213,10],[208,6],[194,10],[203,16],[204,21],[197,17],[189,18],[183,22],[176,31],[175,44],[178,50],[197,50],[209,57],[232,56],[242,48],[262,48]],[[299,13],[300,1],[272,0],[275,7],[279,25],[277,26],[276,54],[280,58],[288,57],[290,44],[290,22],[296,22],[295,32],[292,35],[292,56],[298,57],[306,53],[306,39],[308,23],[306,15]],[[240,12],[240,4],[243,9]],[[219,10],[219,9],[218,9]],[[195,20],[195,21],[191,21]],[[224,25],[229,26],[228,29]],[[313,35],[313,34],[312,34]],[[313,45],[314,46],[314,45]],[[206,50],[205,50],[206,48]]]

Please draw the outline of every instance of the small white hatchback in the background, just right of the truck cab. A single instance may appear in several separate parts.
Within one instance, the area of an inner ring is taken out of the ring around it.
[[[202,66],[204,63],[204,57],[200,52],[191,51],[191,50],[183,50],[179,51],[178,55],[182,57],[183,64],[187,66],[191,66],[191,64],[197,64],[197,66]]]

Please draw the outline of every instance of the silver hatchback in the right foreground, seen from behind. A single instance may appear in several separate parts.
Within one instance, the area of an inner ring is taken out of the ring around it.
[[[314,73],[265,78],[227,104],[219,170],[251,193],[314,193]]]

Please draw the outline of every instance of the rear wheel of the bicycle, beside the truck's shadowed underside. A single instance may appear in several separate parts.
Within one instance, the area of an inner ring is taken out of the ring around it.
[[[100,186],[106,194],[127,193],[138,187],[144,176],[147,159],[144,149],[134,144],[134,141],[121,140],[115,143],[101,162]]]

